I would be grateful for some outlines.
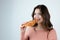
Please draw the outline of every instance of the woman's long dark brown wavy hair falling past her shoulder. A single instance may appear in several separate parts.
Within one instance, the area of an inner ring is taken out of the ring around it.
[[[45,5],[37,5],[32,12],[33,20],[34,20],[35,9],[40,9],[40,11],[42,12],[41,16],[43,17],[43,23],[42,23],[44,25],[43,28],[46,29],[46,30],[53,29],[53,25],[50,22],[50,14],[49,14],[49,11],[48,11],[47,7]],[[34,26],[36,26],[36,25],[37,25],[37,23]]]

